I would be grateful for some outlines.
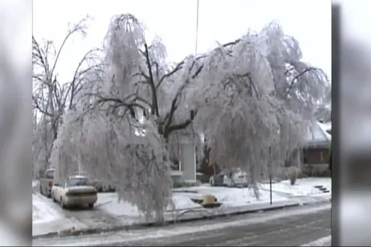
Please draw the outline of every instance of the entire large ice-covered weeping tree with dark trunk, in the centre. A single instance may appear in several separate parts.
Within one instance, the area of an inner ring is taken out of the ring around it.
[[[167,144],[178,136],[203,133],[210,163],[246,170],[253,185],[301,146],[328,82],[278,24],[173,66],[144,31],[130,14],[112,18],[104,75],[60,128],[55,163],[77,152],[120,199],[161,221],[171,197]]]

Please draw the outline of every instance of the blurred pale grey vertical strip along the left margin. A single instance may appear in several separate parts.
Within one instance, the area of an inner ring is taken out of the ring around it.
[[[32,1],[0,1],[0,246],[32,245]]]

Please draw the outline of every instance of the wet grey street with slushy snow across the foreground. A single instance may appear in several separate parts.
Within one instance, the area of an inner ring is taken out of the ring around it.
[[[330,205],[33,241],[33,246],[301,246],[331,234]]]

